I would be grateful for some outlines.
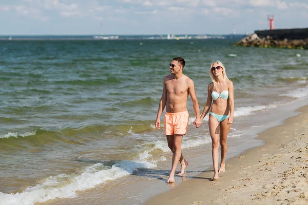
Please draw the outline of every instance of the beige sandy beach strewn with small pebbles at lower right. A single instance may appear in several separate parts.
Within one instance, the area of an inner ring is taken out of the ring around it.
[[[308,106],[297,111],[258,134],[264,145],[227,160],[217,181],[211,168],[144,204],[308,204]]]

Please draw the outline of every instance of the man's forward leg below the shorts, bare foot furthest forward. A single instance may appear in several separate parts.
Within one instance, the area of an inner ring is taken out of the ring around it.
[[[182,138],[183,135],[175,135],[174,136],[174,153],[172,156],[172,169],[169,175],[169,178],[167,180],[167,183],[169,182],[175,182],[175,172],[178,166],[178,163],[181,159],[181,155],[182,155],[182,151],[181,151],[181,147],[182,147]]]

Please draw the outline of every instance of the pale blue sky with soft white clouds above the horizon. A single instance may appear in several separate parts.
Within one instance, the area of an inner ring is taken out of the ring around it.
[[[308,27],[308,0],[0,0],[0,35],[237,34]]]

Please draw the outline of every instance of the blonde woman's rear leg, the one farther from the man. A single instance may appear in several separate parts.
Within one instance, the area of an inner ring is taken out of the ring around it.
[[[221,154],[221,162],[219,172],[225,171],[225,159],[227,155],[227,136],[230,130],[231,124],[227,124],[227,119],[224,119],[220,122],[220,154]]]

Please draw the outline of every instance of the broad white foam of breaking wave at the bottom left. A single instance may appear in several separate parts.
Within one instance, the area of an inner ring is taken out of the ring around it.
[[[76,191],[83,191],[94,188],[96,185],[105,183],[107,180],[114,180],[129,175],[139,168],[153,168],[155,164],[143,159],[134,161],[122,161],[106,169],[102,163],[85,168],[80,175],[60,174],[50,176],[42,183],[28,187],[22,193],[5,194],[0,192],[2,205],[24,204],[32,205],[35,202],[44,202],[55,198],[76,197]]]

